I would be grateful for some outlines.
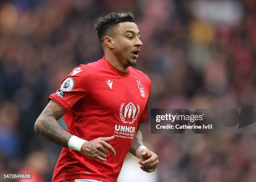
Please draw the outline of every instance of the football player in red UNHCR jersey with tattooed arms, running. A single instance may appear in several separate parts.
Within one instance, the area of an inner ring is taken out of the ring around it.
[[[79,65],[49,96],[35,131],[63,148],[52,182],[117,182],[128,152],[153,172],[158,157],[143,145],[151,80],[136,65],[142,42],[131,12],[112,12],[94,26],[102,59]],[[57,122],[61,117],[65,131]]]

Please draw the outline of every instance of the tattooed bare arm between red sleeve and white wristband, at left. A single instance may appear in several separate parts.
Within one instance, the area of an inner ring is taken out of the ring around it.
[[[62,107],[50,100],[49,104],[36,120],[35,131],[51,142],[61,145],[62,147],[68,147],[68,142],[72,135],[65,131],[61,125],[59,125],[59,122],[57,122],[65,113]]]

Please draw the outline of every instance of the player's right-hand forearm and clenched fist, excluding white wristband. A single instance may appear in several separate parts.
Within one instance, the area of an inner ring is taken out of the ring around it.
[[[138,124],[138,129],[133,138],[133,143],[130,148],[130,153],[136,156],[136,151],[138,147],[143,145],[143,137],[140,131],[141,123]],[[159,164],[158,156],[150,151],[143,149],[141,150],[141,157],[143,158],[138,163],[141,165],[141,169],[145,172],[153,172],[156,170],[157,165]]]

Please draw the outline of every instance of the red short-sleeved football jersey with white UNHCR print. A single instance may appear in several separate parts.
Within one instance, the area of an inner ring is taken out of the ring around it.
[[[67,114],[67,131],[84,140],[115,136],[108,142],[106,162],[86,157],[82,152],[63,148],[56,163],[53,182],[92,179],[117,182],[124,158],[130,150],[138,122],[146,120],[151,80],[132,67],[124,73],[105,57],[76,67],[49,96]]]

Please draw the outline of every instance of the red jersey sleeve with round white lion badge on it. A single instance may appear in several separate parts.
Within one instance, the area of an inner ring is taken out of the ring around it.
[[[89,73],[87,65],[79,65],[72,70],[63,80],[59,89],[49,96],[61,106],[66,112],[69,112],[76,102],[86,96],[89,88]]]

